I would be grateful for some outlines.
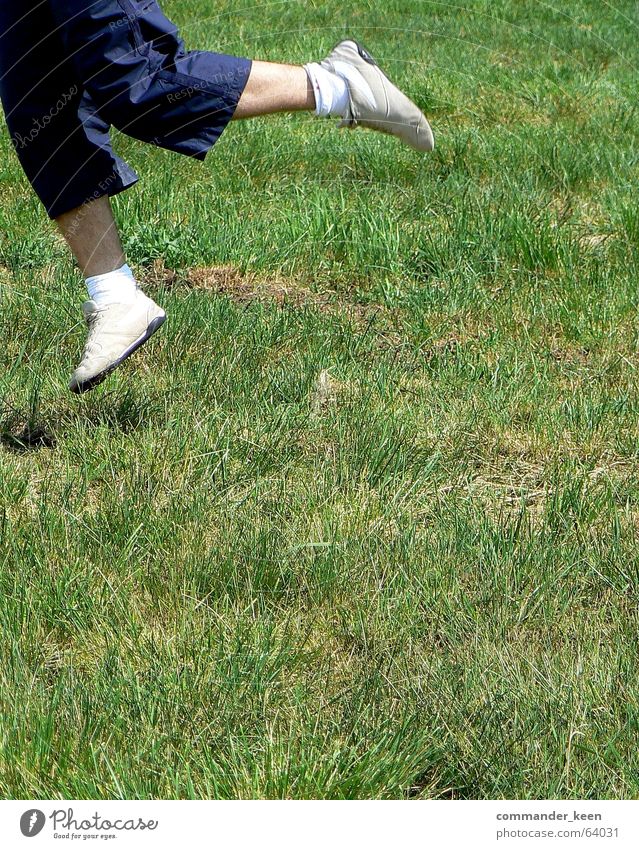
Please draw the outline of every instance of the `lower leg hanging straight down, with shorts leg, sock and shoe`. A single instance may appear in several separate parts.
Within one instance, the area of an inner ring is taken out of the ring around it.
[[[114,155],[109,125],[75,73],[48,2],[0,2],[0,98],[26,176],[95,295],[85,307],[89,339],[71,382],[83,391],[165,318],[123,264],[107,197],[133,185],[137,175]]]

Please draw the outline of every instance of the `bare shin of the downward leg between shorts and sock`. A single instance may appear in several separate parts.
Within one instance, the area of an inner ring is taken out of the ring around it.
[[[107,274],[126,262],[108,197],[65,212],[56,224],[85,277]]]

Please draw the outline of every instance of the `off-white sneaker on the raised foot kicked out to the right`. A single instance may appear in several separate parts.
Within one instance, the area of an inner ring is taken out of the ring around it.
[[[435,147],[433,131],[421,109],[393,85],[356,41],[340,42],[320,65],[348,85],[350,104],[341,127],[389,133],[423,153]]]

